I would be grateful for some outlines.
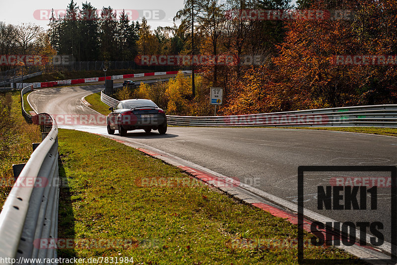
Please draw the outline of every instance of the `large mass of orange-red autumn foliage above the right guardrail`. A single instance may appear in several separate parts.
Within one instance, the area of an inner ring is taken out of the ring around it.
[[[360,100],[368,104],[394,102],[396,97],[390,95],[396,91],[396,66],[335,66],[331,58],[395,54],[392,43],[397,36],[396,6],[386,0],[345,1],[338,6],[326,1],[311,6],[320,10],[335,7],[354,10],[355,16],[347,20],[296,20],[288,24],[287,37],[274,60],[279,74],[288,76],[285,83],[306,91],[314,106],[351,106]]]

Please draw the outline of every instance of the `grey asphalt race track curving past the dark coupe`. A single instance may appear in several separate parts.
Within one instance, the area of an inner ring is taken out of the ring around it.
[[[159,76],[160,77],[160,76]],[[29,101],[38,112],[53,115],[97,115],[80,98],[98,92],[103,85],[38,89]],[[60,128],[107,134],[105,126],[72,125]],[[116,131],[116,137],[119,137]],[[295,202],[298,166],[390,166],[397,165],[397,137],[315,130],[271,128],[168,127],[167,134],[131,131],[125,141],[160,149],[228,177]],[[350,174],[350,175],[349,175]],[[378,208],[367,210],[317,210],[317,186],[332,176],[390,177],[390,173],[308,173],[304,179],[305,208],[338,221],[380,221],[390,231],[390,188],[378,188]],[[360,202],[360,201],[359,201]],[[341,204],[344,200],[341,201]],[[360,205],[362,206],[362,205]],[[358,228],[357,228],[358,229]],[[369,233],[369,229],[367,233]],[[390,242],[390,232],[385,233]]]

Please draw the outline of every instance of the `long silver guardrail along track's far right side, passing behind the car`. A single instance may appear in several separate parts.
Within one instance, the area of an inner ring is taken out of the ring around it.
[[[101,100],[116,107],[118,100],[101,91]],[[397,128],[397,104],[340,107],[235,116],[171,116],[168,125],[204,127],[386,127]]]

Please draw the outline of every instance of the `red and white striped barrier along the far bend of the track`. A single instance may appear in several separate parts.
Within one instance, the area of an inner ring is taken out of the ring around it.
[[[143,76],[151,76],[151,75],[163,75],[163,74],[177,74],[181,73],[192,73],[192,70],[185,71],[168,71],[168,72],[145,72],[145,73],[130,73],[130,74],[121,74],[121,75],[112,75],[106,76],[107,80],[110,79],[124,79],[124,78],[134,78],[134,77],[143,77]],[[69,85],[69,84],[82,84],[82,83],[90,83],[90,82],[98,82],[104,81],[105,76],[102,77],[87,77],[80,79],[67,79],[67,80],[59,80],[59,81],[50,81],[50,82],[36,82],[36,83],[23,83],[23,85],[33,85],[33,88],[39,87],[53,87],[58,85]],[[17,83],[17,86],[21,86],[20,83]]]

